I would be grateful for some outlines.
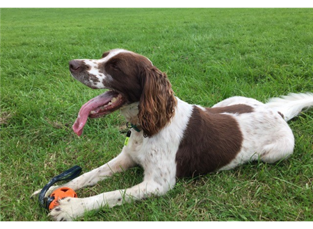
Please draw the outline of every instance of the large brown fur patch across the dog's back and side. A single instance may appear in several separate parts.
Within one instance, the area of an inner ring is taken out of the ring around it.
[[[229,164],[241,150],[243,135],[234,117],[225,112],[253,112],[248,105],[224,108],[194,107],[176,155],[177,177],[197,176]]]

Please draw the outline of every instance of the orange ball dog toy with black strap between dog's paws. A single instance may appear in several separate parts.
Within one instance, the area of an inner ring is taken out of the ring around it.
[[[45,197],[45,194],[49,190],[49,188],[57,183],[58,181],[63,181],[63,180],[73,180],[74,178],[77,178],[79,174],[81,173],[81,167],[75,165],[74,167],[68,169],[67,171],[61,173],[58,176],[55,176],[52,178],[45,187],[41,190],[38,200],[40,202],[40,205],[45,208],[46,210],[52,210],[54,207],[58,206],[58,200],[61,200],[65,197],[73,197],[77,198],[76,192],[74,192],[73,189],[70,189],[69,187],[60,187],[48,197]]]

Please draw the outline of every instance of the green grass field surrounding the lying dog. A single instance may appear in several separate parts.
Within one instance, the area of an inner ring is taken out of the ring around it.
[[[136,51],[166,71],[176,95],[211,106],[313,92],[312,8],[1,8],[0,221],[49,221],[31,194],[74,164],[90,171],[122,149],[119,112],[72,131],[100,94],[70,76],[74,58]],[[296,149],[278,164],[178,180],[162,198],[89,212],[78,221],[313,221],[313,112],[290,122]],[[80,197],[143,179],[131,169]]]

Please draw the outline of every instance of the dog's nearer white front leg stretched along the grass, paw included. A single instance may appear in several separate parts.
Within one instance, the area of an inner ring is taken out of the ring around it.
[[[129,189],[106,192],[88,198],[64,198],[59,201],[60,205],[55,207],[49,215],[56,221],[72,221],[90,210],[99,210],[105,206],[114,207],[152,195],[161,196],[166,194],[168,189],[170,189],[169,185],[160,185],[150,180]]]

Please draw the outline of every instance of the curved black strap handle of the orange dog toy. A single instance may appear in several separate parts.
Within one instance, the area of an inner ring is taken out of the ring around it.
[[[54,185],[55,183],[57,183],[58,181],[73,180],[74,178],[77,178],[77,176],[79,176],[79,174],[81,174],[81,171],[82,171],[81,167],[79,167],[78,165],[75,165],[74,167],[67,169],[67,171],[61,173],[60,175],[52,178],[49,181],[49,183],[47,183],[47,185],[45,185],[45,187],[42,188],[42,190],[38,196],[38,200],[40,202],[40,205],[42,207],[44,207],[45,209],[49,209],[49,204],[51,203],[51,200],[47,201],[47,198],[45,198],[45,194],[48,192],[49,188],[52,185]]]

